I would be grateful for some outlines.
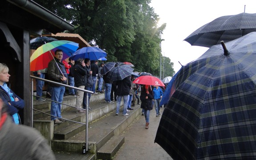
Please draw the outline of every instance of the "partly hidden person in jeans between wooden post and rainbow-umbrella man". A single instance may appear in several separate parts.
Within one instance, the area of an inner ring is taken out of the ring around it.
[[[43,70],[33,71],[33,74],[35,77],[43,78],[43,79],[45,79],[45,73],[46,73],[46,68]],[[37,96],[39,97],[36,97],[36,101],[45,101],[45,99],[41,98],[43,95],[44,84],[45,84],[45,81],[41,81],[37,79]]]

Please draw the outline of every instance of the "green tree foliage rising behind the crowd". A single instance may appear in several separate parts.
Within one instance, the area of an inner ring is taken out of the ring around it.
[[[72,23],[75,26],[72,33],[81,35],[92,46],[105,49],[108,62],[131,62],[134,71],[159,77],[163,41],[160,33],[166,23],[157,27],[158,15],[150,8],[150,0],[34,1]],[[165,59],[164,74],[171,76],[173,63]]]

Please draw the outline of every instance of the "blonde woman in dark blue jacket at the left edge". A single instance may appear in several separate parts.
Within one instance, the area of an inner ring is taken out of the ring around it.
[[[8,105],[7,112],[12,116],[12,120],[16,124],[20,124],[19,109],[24,108],[24,101],[18,97],[9,87],[6,82],[9,82],[8,66],[0,63],[0,98]]]

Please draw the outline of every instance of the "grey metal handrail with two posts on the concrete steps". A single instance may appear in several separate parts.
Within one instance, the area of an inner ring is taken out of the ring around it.
[[[72,88],[72,89],[75,89],[75,90],[80,90],[80,91],[86,92],[86,110],[87,110],[87,112],[86,112],[86,124],[85,124],[85,125],[86,125],[85,145],[86,145],[86,152],[87,152],[87,151],[88,151],[88,110],[89,110],[89,96],[88,96],[88,93],[93,94],[93,92],[92,92],[92,91],[89,91],[89,90],[83,90],[83,89],[81,89],[81,88],[77,88],[77,87],[65,85],[65,84],[62,84],[62,83],[50,81],[50,80],[48,80],[48,79],[38,78],[38,77],[35,77],[35,76],[32,76],[32,75],[30,75],[30,78],[35,78],[35,79],[39,79],[39,80],[41,80],[41,81],[45,81],[45,82],[49,82],[49,83],[57,84],[57,85],[60,85],[60,86],[65,86],[65,87],[68,87],[68,88]],[[60,102],[58,102],[58,103],[60,103]],[[62,104],[62,103],[61,103],[61,104]],[[33,127],[33,110],[37,110],[37,109],[34,109],[34,108],[33,108],[33,80],[31,81],[31,107],[32,107],[32,109],[31,109],[31,118],[32,118],[32,119],[31,119],[31,127]],[[38,111],[38,110],[37,110],[37,111]],[[44,113],[44,112],[43,112],[43,113]],[[48,113],[45,113],[45,114],[48,114]],[[51,115],[51,116],[53,116],[53,115]],[[55,116],[53,116],[53,117],[55,117]],[[65,120],[66,120],[66,119],[65,119]],[[68,121],[70,121],[70,120],[68,120]],[[81,123],[81,122],[76,122],[76,121],[73,121],[73,122],[75,122],[75,123]]]

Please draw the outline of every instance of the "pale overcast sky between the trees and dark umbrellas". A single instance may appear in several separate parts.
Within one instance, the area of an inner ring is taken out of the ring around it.
[[[175,72],[181,67],[179,62],[185,65],[208,49],[191,46],[183,39],[220,16],[244,12],[244,5],[246,13],[256,13],[256,0],[151,0],[150,7],[159,15],[159,24],[167,23],[162,35],[162,55],[174,62]]]

